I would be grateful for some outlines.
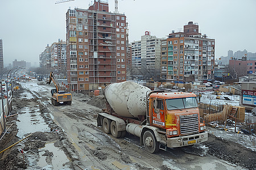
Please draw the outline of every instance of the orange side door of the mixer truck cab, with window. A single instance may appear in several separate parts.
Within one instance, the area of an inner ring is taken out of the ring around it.
[[[165,128],[165,111],[163,99],[154,99],[153,104],[152,124],[154,126],[160,126],[160,128]]]

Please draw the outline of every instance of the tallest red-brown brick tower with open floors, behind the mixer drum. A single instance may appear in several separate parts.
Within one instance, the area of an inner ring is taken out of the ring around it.
[[[126,16],[95,0],[88,9],[69,9],[66,19],[69,89],[88,91],[125,81]]]

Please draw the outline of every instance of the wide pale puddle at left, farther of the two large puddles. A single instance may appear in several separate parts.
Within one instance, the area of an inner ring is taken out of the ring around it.
[[[17,128],[19,129],[17,137],[23,138],[25,134],[34,133],[36,131],[50,131],[48,125],[40,116],[39,105],[25,107],[20,109],[17,117]]]

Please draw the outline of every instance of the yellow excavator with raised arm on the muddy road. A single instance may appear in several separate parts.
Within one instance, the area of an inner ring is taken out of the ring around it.
[[[51,72],[49,75],[49,80],[47,79],[46,83],[50,84],[51,82],[54,83],[55,89],[51,90],[52,94],[52,104],[53,105],[59,105],[60,103],[68,104],[70,105],[72,103],[72,95],[70,92],[64,91],[59,83],[57,82],[57,79],[55,78],[54,74]]]

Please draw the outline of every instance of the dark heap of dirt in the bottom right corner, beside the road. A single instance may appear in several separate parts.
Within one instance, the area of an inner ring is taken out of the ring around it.
[[[208,134],[208,141],[204,142],[204,145],[209,147],[208,154],[210,155],[247,169],[256,169],[256,152],[239,143]]]

